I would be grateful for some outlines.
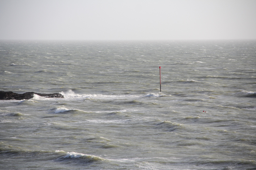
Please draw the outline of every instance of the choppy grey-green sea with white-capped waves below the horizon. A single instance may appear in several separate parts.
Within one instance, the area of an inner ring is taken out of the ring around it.
[[[256,40],[1,40],[0,91],[64,96],[0,101],[1,170],[256,169]]]

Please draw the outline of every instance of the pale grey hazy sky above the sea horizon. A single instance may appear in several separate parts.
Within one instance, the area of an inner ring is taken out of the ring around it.
[[[0,0],[0,39],[256,39],[256,0]]]

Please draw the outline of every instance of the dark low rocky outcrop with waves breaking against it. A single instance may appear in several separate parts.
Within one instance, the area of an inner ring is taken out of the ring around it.
[[[0,91],[0,100],[29,100],[34,97],[34,94],[38,96],[46,97],[46,98],[64,98],[64,96],[60,93],[51,93],[51,94],[42,94],[35,92],[25,92],[23,94],[18,94],[14,92],[3,92]]]

